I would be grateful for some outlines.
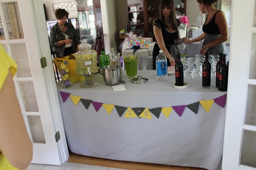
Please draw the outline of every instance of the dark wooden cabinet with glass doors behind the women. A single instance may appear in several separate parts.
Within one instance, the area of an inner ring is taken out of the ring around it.
[[[174,0],[176,13],[186,15],[186,0]],[[159,1],[126,0],[127,31],[142,37],[154,37],[152,24],[159,18]]]

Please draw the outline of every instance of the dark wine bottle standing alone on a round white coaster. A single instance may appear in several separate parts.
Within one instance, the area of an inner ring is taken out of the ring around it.
[[[184,86],[183,64],[180,61],[180,53],[177,53],[177,62],[175,63],[175,86]]]

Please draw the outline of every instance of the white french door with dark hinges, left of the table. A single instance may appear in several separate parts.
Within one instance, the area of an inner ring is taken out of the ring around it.
[[[42,0],[0,0],[0,7],[0,43],[18,65],[14,83],[33,141],[32,163],[60,165],[68,149]]]

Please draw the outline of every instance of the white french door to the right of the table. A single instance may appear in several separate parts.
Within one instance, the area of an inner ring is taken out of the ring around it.
[[[231,1],[229,80],[222,169],[256,169],[255,5],[255,0]]]

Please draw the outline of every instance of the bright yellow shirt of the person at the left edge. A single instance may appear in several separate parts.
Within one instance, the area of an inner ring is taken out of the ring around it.
[[[15,61],[5,52],[4,47],[0,44],[0,90],[3,87],[4,81],[9,73],[9,70],[12,73],[12,76],[17,71],[17,64]],[[13,167],[7,159],[4,157],[1,148],[0,148],[0,169],[4,170],[18,170]]]

